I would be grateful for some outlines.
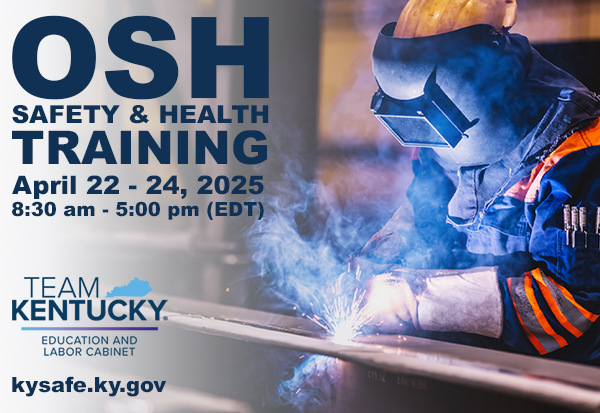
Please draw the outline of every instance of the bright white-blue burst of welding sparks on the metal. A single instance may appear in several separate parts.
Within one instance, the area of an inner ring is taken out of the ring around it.
[[[350,267],[347,272],[338,277],[332,287],[333,302],[323,305],[322,317],[317,314],[308,316],[309,320],[329,333],[335,343],[346,343],[352,340],[361,334],[360,329],[372,319],[372,315],[365,310],[363,305],[367,292],[357,287],[351,287],[353,292],[346,293],[347,288],[344,283],[346,274],[350,274]],[[361,270],[358,266],[354,277],[360,281],[360,276]]]

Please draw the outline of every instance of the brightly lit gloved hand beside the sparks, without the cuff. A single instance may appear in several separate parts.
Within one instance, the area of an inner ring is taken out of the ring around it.
[[[403,322],[416,320],[417,299],[408,282],[393,273],[375,276],[364,311],[372,317],[371,324],[384,330],[398,330]]]

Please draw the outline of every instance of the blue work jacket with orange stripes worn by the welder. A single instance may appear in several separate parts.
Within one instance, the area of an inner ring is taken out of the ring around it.
[[[419,149],[408,190],[418,240],[398,262],[498,268],[500,339],[430,337],[600,365],[600,100],[533,53],[524,89],[550,98],[546,115],[492,165],[445,165]],[[574,242],[565,205],[587,210]]]

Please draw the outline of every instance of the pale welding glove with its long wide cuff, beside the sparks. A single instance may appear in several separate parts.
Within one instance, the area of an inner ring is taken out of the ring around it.
[[[390,277],[400,278],[403,282],[391,282]],[[372,286],[371,292],[377,293],[369,295],[367,305],[374,312],[375,323],[378,313],[387,312],[386,323],[391,321],[393,314],[412,321],[416,328],[423,330],[465,332],[494,338],[502,334],[503,306],[496,267],[466,270],[401,268],[376,276]],[[386,286],[389,294],[380,292]]]

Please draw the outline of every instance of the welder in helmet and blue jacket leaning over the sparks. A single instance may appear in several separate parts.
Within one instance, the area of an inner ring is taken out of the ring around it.
[[[371,110],[415,147],[361,260],[391,331],[600,364],[600,99],[513,34],[516,0],[410,0]],[[383,268],[383,269],[382,269]],[[406,330],[404,330],[406,331]]]

